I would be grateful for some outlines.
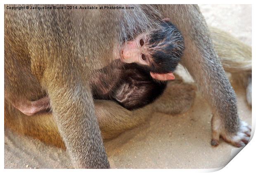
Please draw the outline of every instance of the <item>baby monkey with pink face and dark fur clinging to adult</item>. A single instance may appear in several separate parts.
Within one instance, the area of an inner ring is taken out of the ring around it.
[[[164,81],[175,78],[173,71],[183,51],[181,33],[170,19],[164,19],[161,28],[142,33],[134,40],[124,43],[118,60],[95,71],[91,81],[93,98],[115,100],[128,110],[151,103],[164,91]],[[120,60],[128,64],[117,65]],[[114,71],[120,78],[107,82],[109,70]],[[152,80],[150,75],[161,82]],[[50,98],[45,96],[36,101],[25,102],[15,100],[13,106],[26,115],[34,115],[50,110]]]

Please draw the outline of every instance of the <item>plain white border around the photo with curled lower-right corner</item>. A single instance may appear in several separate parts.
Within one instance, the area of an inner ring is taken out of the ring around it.
[[[166,3],[172,3],[172,4],[175,4],[175,3],[179,3],[179,4],[239,4],[239,2],[242,4],[253,4],[252,5],[252,16],[255,15],[255,12],[254,12],[254,3],[252,0],[243,0],[243,1],[237,1],[237,0],[229,0],[229,1],[223,1],[223,0],[211,0],[211,1],[203,1],[203,0],[193,0],[193,1],[188,1],[188,0],[157,0],[157,1],[152,1],[152,0],[147,0],[147,1],[141,1],[141,0],[129,0],[129,1],[120,1],[120,0],[108,0],[106,2],[102,1],[102,0],[94,0],[94,1],[81,1],[81,0],[44,0],[44,1],[34,1],[34,0],[24,0],[24,1],[18,1],[18,0],[9,0],[9,1],[6,1],[4,0],[2,2],[2,8],[0,8],[0,12],[1,12],[1,15],[2,15],[2,18],[1,18],[1,47],[2,47],[2,61],[0,63],[1,65],[1,89],[2,89],[2,92],[1,92],[1,104],[0,104],[0,110],[2,112],[2,133],[1,133],[1,142],[0,142],[0,146],[1,146],[1,153],[2,153],[2,157],[1,157],[1,169],[3,169],[3,171],[5,172],[14,172],[16,171],[17,169],[4,169],[4,8],[3,8],[3,5],[4,4],[19,4],[19,3],[22,3],[22,4],[34,4],[34,3],[38,3],[38,4],[90,4],[90,2],[94,2],[94,3],[99,3],[99,4],[118,4],[118,3],[123,3],[123,4],[126,4],[126,3],[129,3],[129,4],[137,4],[137,3],[140,3],[140,4],[144,4],[144,3],[149,3],[149,4],[154,4],[154,3],[158,3],[158,4],[166,4]],[[255,22],[254,20],[252,19],[252,38],[254,38],[254,28],[255,28]],[[255,49],[254,49],[254,39],[252,40],[252,57],[254,57],[255,54]],[[254,69],[254,61],[253,61],[253,69]],[[254,75],[252,75],[254,76]],[[254,78],[254,77],[252,77]],[[254,82],[254,79],[252,80],[252,86],[255,86],[254,85],[255,82]],[[253,94],[253,98],[254,98],[254,92],[252,92]],[[252,101],[252,103],[254,103]],[[252,115],[255,114],[255,107],[252,106]],[[252,128],[253,128],[253,131],[255,131],[255,116],[252,116]],[[254,137],[255,138],[255,137]],[[255,139],[252,139],[251,142],[246,146],[244,147],[244,149],[242,149],[241,152],[239,152],[239,154],[237,156],[235,156],[234,159],[232,159],[230,161],[230,163],[225,166],[225,168],[221,169],[220,172],[221,173],[226,173],[226,172],[252,172],[252,171],[255,171],[255,156],[256,156],[256,140]],[[161,170],[152,170],[152,169],[143,169],[143,170],[133,170],[133,171],[142,171],[142,172],[155,172],[155,171],[161,171],[161,172],[189,172],[189,173],[193,173],[193,172],[212,172],[212,171],[218,171],[219,168],[216,168],[216,169],[161,169]],[[54,172],[70,172],[70,171],[76,171],[76,172],[84,172],[84,171],[90,171],[90,172],[98,172],[98,171],[104,171],[104,173],[107,173],[107,172],[116,172],[116,171],[122,171],[122,172],[130,172],[131,170],[128,170],[128,169],[122,169],[122,170],[65,170],[65,169],[55,169],[55,170],[45,170],[45,169],[32,169],[32,170],[28,170],[28,169],[19,169],[17,170],[19,171],[20,173],[22,172],[25,172],[25,171],[37,171],[37,172],[45,172],[45,171],[54,171]]]

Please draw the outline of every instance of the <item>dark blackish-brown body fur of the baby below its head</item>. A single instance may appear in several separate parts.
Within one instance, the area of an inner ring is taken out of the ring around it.
[[[166,82],[153,80],[149,71],[140,69],[135,63],[125,64],[124,69],[119,70],[121,70],[120,81],[113,84],[114,87],[110,87],[109,92],[104,93],[101,88],[93,87],[94,99],[115,100],[122,107],[133,110],[153,102],[166,88]],[[104,81],[104,78],[99,80],[101,81]]]

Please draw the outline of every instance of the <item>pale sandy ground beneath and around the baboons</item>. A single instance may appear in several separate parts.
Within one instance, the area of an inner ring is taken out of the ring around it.
[[[251,5],[200,5],[211,26],[217,26],[251,45]],[[225,14],[225,16],[223,16]],[[251,108],[244,89],[232,85],[239,115],[251,124]],[[105,142],[112,168],[218,168],[231,158],[233,146],[220,142],[211,147],[211,111],[197,93],[185,114],[155,113],[143,126]],[[72,168],[62,149],[5,129],[5,168]]]

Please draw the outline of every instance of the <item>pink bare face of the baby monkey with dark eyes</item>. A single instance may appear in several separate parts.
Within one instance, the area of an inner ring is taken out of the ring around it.
[[[140,34],[134,40],[124,43],[121,47],[121,61],[126,63],[137,63],[149,66],[149,60],[152,58],[148,53],[146,43],[146,34]]]

